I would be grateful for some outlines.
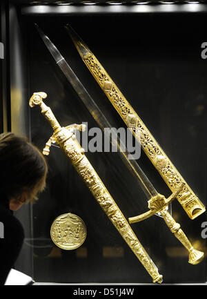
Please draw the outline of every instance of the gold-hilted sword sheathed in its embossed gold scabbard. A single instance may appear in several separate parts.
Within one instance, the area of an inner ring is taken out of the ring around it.
[[[95,199],[106,213],[112,224],[114,224],[122,238],[124,238],[130,249],[132,249],[132,251],[135,253],[141,264],[143,264],[146,271],[148,271],[153,282],[161,283],[162,276],[159,274],[157,267],[150,259],[148,253],[146,253],[144,247],[142,247],[123,213],[121,213],[121,210],[115,203],[115,200],[113,200],[112,196],[106,189],[106,186],[104,186],[103,182],[101,182],[101,179],[88,161],[86,155],[84,154],[83,148],[81,148],[75,137],[75,128],[83,130],[83,126],[78,126],[75,124],[67,127],[61,127],[55,118],[55,115],[52,113],[52,110],[43,103],[43,99],[46,97],[46,93],[40,92],[34,93],[30,98],[30,106],[34,107],[39,105],[41,108],[41,113],[46,117],[46,119],[48,119],[48,122],[50,122],[50,125],[54,130],[52,137],[50,137],[46,143],[46,148],[44,148],[43,153],[45,155],[50,153],[50,146],[52,142],[56,142],[60,146],[63,153],[65,153],[66,157],[68,157],[68,160],[75,167],[77,173],[81,175],[83,181],[88,186],[88,189],[92,195],[94,195]]]

